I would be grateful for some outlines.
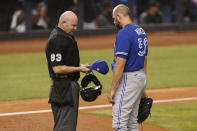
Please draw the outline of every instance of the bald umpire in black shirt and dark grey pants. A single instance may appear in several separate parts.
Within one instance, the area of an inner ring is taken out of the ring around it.
[[[51,77],[49,103],[54,117],[54,131],[76,131],[80,72],[89,72],[79,64],[79,50],[73,32],[78,18],[71,11],[64,12],[53,29],[46,45],[48,70]]]

